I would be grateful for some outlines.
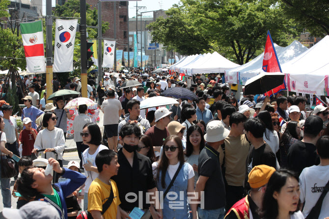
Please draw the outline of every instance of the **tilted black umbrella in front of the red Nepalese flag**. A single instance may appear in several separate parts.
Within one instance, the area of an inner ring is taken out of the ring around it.
[[[283,73],[260,73],[247,80],[245,95],[265,94],[282,85],[283,80]]]

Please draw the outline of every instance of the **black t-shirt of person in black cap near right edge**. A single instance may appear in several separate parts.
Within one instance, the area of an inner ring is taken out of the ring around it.
[[[304,168],[320,164],[320,158],[315,145],[299,141],[289,147],[287,162],[288,169],[300,175]]]

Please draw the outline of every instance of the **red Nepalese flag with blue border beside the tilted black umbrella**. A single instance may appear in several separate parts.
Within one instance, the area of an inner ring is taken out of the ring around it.
[[[270,31],[267,31],[267,40],[266,40],[266,44],[265,44],[262,69],[264,72],[281,72],[282,73]],[[285,83],[285,81],[283,81],[282,85],[272,89],[271,91],[268,91],[267,93],[264,94],[264,96],[272,96],[273,94],[275,95],[278,92],[280,92],[282,90],[286,90],[286,89],[287,89],[286,83]]]

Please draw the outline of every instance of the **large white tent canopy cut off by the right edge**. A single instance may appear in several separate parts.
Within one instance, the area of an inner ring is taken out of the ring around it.
[[[329,36],[281,65],[288,91],[329,96]]]

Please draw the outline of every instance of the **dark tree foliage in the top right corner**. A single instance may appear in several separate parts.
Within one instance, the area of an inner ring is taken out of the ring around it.
[[[283,12],[314,36],[329,34],[328,0],[281,0]]]

